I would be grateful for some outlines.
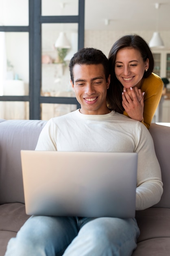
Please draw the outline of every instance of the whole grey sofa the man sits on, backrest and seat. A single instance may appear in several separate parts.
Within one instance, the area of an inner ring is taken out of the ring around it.
[[[35,149],[45,123],[41,120],[0,120],[0,256],[4,256],[9,239],[16,236],[29,218],[24,207],[20,150]],[[133,256],[169,256],[170,127],[151,124],[149,132],[161,166],[164,190],[157,205],[136,212],[141,234]]]

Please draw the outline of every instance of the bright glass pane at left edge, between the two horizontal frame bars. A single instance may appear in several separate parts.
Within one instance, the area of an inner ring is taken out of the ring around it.
[[[27,32],[0,32],[0,95],[28,95],[28,51]]]

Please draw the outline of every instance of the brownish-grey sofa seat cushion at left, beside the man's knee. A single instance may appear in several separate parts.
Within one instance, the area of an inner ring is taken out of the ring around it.
[[[29,217],[25,213],[24,204],[0,205],[0,256],[4,256],[9,239],[17,235],[17,231]]]

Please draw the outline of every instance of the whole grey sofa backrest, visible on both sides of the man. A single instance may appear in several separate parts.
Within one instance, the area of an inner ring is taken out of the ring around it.
[[[0,204],[24,203],[20,150],[34,150],[42,120],[0,120]],[[154,207],[170,208],[170,127],[151,124],[155,152],[162,172],[163,195]]]

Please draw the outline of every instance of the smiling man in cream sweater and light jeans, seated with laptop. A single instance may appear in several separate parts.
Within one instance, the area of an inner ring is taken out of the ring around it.
[[[147,128],[107,108],[108,70],[97,49],[74,54],[71,84],[81,109],[50,119],[36,150],[137,152],[136,209],[145,209],[161,198],[160,166]],[[138,236],[135,218],[32,216],[5,256],[130,256]]]

